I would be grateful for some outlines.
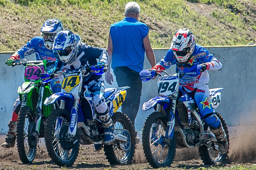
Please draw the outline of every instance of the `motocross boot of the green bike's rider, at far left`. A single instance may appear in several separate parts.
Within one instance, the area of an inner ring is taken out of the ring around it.
[[[5,142],[2,143],[1,147],[9,149],[15,146],[16,125],[17,125],[17,121],[10,120],[10,122],[8,123],[9,130],[6,134]]]

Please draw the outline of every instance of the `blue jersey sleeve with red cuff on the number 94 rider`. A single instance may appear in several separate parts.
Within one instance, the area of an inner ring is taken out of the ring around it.
[[[27,44],[25,44],[22,48],[20,48],[17,52],[15,52],[11,58],[12,59],[23,59],[25,56],[31,55],[35,53],[35,46],[38,43],[38,38],[34,37]]]

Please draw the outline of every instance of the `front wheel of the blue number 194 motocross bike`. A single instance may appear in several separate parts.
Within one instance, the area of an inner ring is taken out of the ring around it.
[[[166,114],[153,112],[147,117],[143,126],[143,152],[153,168],[170,166],[175,156],[175,136],[172,139],[165,137],[167,121]]]

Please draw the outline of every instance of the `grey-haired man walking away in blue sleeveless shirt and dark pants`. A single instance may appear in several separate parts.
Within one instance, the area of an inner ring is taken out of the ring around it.
[[[112,60],[111,67],[118,86],[131,87],[127,90],[122,112],[127,114],[133,125],[140,105],[142,82],[139,72],[143,69],[145,52],[151,66],[156,64],[155,54],[148,38],[149,29],[146,24],[137,20],[139,13],[139,4],[128,2],[125,5],[125,18],[110,27],[108,44],[108,64],[110,65]],[[109,84],[113,82],[110,69],[105,73],[105,80]]]

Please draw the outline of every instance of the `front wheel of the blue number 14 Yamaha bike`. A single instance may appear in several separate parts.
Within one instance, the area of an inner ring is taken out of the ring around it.
[[[62,167],[72,166],[79,153],[79,141],[73,143],[66,140],[69,122],[70,113],[64,109],[56,109],[47,118],[44,130],[49,156],[55,164]]]

